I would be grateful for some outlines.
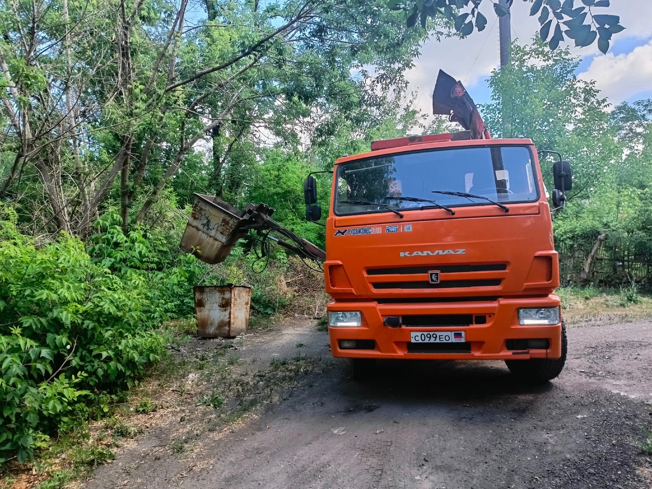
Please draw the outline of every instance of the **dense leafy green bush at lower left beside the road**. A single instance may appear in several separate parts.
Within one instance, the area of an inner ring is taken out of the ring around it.
[[[154,261],[156,239],[110,216],[86,250],[66,234],[37,246],[1,213],[0,464],[108,411],[164,355],[161,321],[192,310],[202,270],[192,256]]]

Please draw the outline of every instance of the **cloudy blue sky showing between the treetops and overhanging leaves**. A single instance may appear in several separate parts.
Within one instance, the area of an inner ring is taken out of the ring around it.
[[[530,6],[527,1],[514,0],[512,7],[512,38],[522,44],[527,44],[539,29],[536,18],[528,15]],[[626,29],[614,35],[607,55],[600,53],[596,45],[572,48],[571,52],[582,58],[577,76],[595,80],[602,96],[614,105],[652,98],[652,1],[612,0],[611,7],[600,10],[621,16]],[[430,40],[415,59],[408,80],[424,112],[432,111],[430,96],[439,68],[462,80],[478,104],[490,101],[486,78],[499,65],[498,25],[494,24],[496,16],[490,1],[482,3],[482,11],[489,20],[483,32],[464,40]]]

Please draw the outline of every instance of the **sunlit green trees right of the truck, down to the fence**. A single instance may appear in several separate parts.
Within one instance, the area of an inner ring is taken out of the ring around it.
[[[645,267],[632,264],[652,261],[652,101],[611,110],[595,82],[576,78],[578,63],[569,50],[551,52],[541,40],[514,45],[511,66],[492,73],[494,102],[482,106],[482,116],[494,136],[523,135],[572,164],[573,189],[554,220],[562,280],[647,281]],[[540,160],[548,191],[554,159]],[[599,237],[606,239],[588,262]],[[600,273],[592,275],[596,263]]]

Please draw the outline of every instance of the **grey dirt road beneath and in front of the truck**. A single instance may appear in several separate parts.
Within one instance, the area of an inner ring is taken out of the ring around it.
[[[175,454],[152,426],[89,488],[650,488],[652,321],[569,328],[561,376],[524,387],[499,362],[380,363],[366,384],[296,323],[243,340],[259,363],[321,372],[287,400]],[[181,422],[175,417],[175,422]],[[183,417],[181,418],[183,421]]]

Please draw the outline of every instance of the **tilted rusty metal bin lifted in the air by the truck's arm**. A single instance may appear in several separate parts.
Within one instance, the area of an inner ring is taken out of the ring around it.
[[[222,263],[238,239],[244,213],[208,195],[195,194],[192,215],[181,238],[181,249],[206,263]]]

